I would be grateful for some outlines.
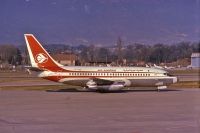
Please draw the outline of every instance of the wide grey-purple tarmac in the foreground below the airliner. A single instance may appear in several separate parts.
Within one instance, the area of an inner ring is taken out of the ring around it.
[[[200,133],[199,89],[0,91],[0,133]]]

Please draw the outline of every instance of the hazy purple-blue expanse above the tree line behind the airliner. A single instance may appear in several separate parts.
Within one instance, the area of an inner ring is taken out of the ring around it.
[[[0,44],[200,41],[200,0],[0,0]]]

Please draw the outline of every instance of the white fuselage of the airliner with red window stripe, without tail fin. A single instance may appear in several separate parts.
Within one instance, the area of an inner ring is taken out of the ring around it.
[[[123,81],[124,86],[163,86],[177,82],[167,72],[145,67],[63,67],[67,72],[44,71],[39,76],[45,79],[86,86],[92,79]]]

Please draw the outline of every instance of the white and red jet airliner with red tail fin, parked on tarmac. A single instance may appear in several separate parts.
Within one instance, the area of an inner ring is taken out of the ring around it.
[[[32,70],[38,77],[95,91],[116,91],[125,87],[166,89],[177,77],[165,70],[147,67],[64,66],[56,62],[32,35],[25,34]]]

